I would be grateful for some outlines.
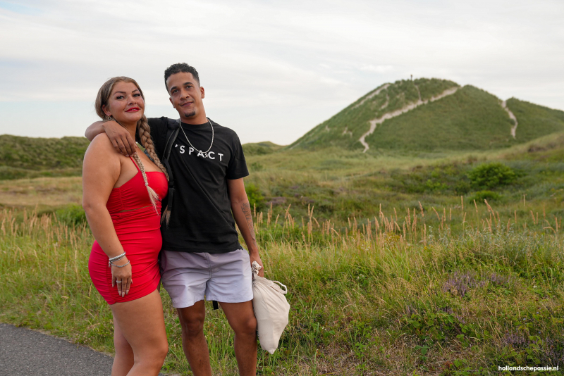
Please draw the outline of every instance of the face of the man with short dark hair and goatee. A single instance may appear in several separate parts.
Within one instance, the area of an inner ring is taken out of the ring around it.
[[[192,73],[176,73],[166,80],[168,95],[176,111],[183,118],[195,118],[204,111],[204,88],[200,87]]]

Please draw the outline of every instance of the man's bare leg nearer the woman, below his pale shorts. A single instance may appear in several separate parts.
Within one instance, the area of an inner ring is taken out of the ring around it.
[[[182,347],[194,376],[212,376],[209,365],[209,349],[204,336],[206,307],[204,301],[193,306],[177,308],[180,327],[182,327]]]

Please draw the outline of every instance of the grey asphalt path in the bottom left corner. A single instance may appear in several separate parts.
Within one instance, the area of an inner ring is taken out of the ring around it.
[[[113,362],[85,346],[0,324],[1,376],[109,376]]]

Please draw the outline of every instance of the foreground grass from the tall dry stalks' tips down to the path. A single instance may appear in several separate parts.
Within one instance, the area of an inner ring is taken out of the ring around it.
[[[290,324],[261,375],[464,375],[564,362],[560,218],[486,206],[380,212],[345,225],[255,211],[266,277],[288,284]],[[112,353],[109,307],[92,288],[86,225],[0,212],[0,320]],[[162,291],[170,352],[188,371]],[[216,375],[235,375],[221,311],[205,334]],[[547,363],[547,364],[548,364]]]

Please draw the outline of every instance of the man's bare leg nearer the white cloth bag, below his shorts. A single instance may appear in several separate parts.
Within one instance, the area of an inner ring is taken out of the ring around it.
[[[252,301],[220,304],[235,332],[235,357],[239,375],[257,375],[257,319],[252,311]]]

